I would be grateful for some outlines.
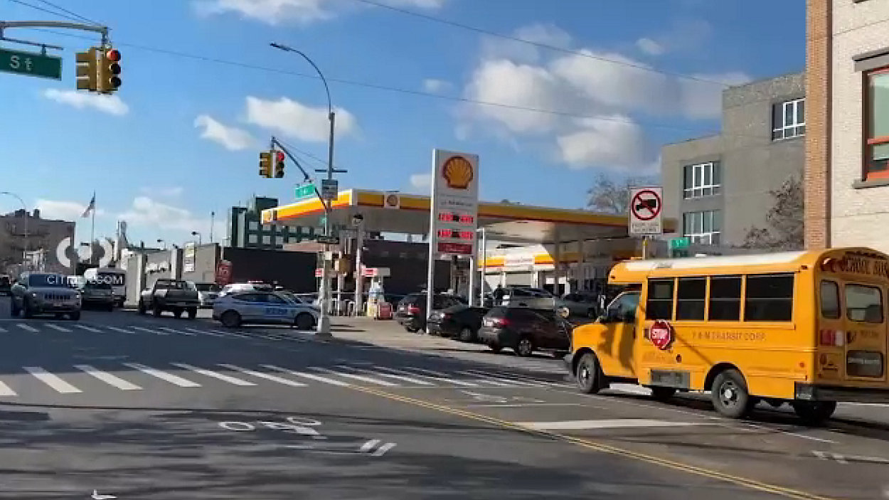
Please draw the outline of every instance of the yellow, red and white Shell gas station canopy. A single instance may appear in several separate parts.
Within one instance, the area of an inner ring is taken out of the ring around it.
[[[412,235],[428,234],[429,197],[377,190],[342,190],[332,200],[331,225],[350,226],[352,217],[364,217],[364,230]],[[307,198],[263,210],[263,223],[321,226],[324,206]],[[596,214],[516,203],[478,203],[478,227],[486,238],[520,244],[552,244],[597,238],[626,238],[626,215]],[[663,221],[664,232],[676,230],[676,220]]]

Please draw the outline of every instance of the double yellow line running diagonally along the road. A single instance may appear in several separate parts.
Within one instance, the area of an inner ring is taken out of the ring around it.
[[[417,406],[417,407],[425,407],[428,409],[433,409],[443,413],[449,413],[451,415],[460,415],[464,418],[468,418],[470,420],[476,420],[478,422],[491,423],[498,427],[503,427],[507,429],[511,429],[513,431],[525,432],[527,434],[535,434],[538,436],[542,436],[548,438],[549,440],[557,440],[572,443],[574,445],[578,445],[582,448],[588,448],[594,451],[598,451],[601,453],[608,453],[616,456],[625,456],[627,458],[632,458],[634,460],[638,460],[640,462],[645,462],[647,464],[660,465],[661,467],[667,467],[669,469],[674,469],[681,472],[687,472],[690,474],[696,474],[699,476],[703,476],[710,479],[715,480],[723,480],[725,482],[729,482],[738,486],[742,486],[744,488],[756,489],[758,491],[764,491],[766,493],[772,493],[773,495],[784,496],[786,498],[794,498],[797,500],[833,500],[827,496],[818,496],[813,495],[811,493],[806,493],[805,491],[800,491],[793,488],[785,488],[782,486],[776,486],[764,482],[760,482],[757,480],[750,480],[747,478],[742,478],[740,476],[734,476],[732,474],[726,474],[725,472],[713,471],[710,469],[705,469],[703,467],[698,467],[696,465],[691,464],[683,464],[681,462],[675,462],[672,460],[668,460],[665,458],[661,458],[658,456],[646,455],[644,453],[639,453],[636,451],[632,451],[625,448],[613,447],[611,445],[606,445],[603,443],[598,443],[592,440],[585,440],[582,438],[576,438],[573,436],[566,436],[565,434],[559,434],[558,432],[552,431],[544,431],[538,429],[531,429],[529,427],[525,427],[522,425],[518,425],[517,423],[512,423],[506,420],[501,420],[500,418],[495,418],[493,416],[481,415],[473,412],[469,412],[466,410],[461,410],[455,407],[448,407],[445,405],[440,405],[437,403],[433,403],[430,401],[426,401],[423,399],[414,399],[407,396],[401,396],[398,394],[393,394],[387,391],[380,391],[379,389],[372,389],[370,387],[360,387],[360,386],[351,386],[350,389],[355,391],[361,391],[367,394],[372,394],[374,396],[379,396],[380,398],[392,399],[395,401],[400,401],[402,403],[406,403],[409,405]]]

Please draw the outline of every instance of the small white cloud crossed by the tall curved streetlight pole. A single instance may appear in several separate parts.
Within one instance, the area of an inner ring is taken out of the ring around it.
[[[336,133],[338,137],[356,133],[355,116],[346,109],[336,108]],[[298,101],[282,97],[277,101],[265,101],[247,97],[247,122],[283,133],[307,142],[326,142],[330,135],[327,108],[312,108]]]

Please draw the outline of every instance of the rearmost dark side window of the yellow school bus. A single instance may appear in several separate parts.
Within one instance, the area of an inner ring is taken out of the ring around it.
[[[745,321],[793,319],[793,274],[749,275],[746,292]]]

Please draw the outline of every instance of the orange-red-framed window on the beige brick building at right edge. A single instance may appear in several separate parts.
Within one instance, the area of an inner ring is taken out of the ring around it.
[[[889,68],[870,71],[867,78],[867,177],[889,177]]]

